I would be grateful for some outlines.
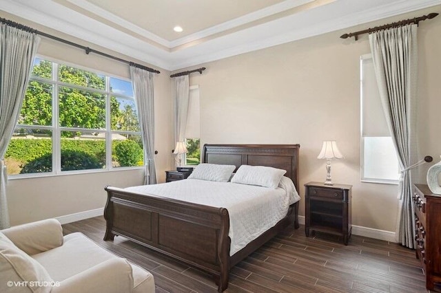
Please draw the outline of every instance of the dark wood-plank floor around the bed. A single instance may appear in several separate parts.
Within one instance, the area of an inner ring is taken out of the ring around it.
[[[65,234],[83,232],[103,248],[141,265],[154,275],[156,292],[216,292],[212,278],[123,237],[103,241],[105,220],[94,217],[63,225]],[[415,250],[352,235],[316,233],[289,226],[229,275],[225,292],[427,292]]]

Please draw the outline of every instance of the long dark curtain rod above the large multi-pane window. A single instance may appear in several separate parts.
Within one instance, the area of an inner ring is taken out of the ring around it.
[[[92,52],[92,53],[95,53],[95,54],[99,54],[101,56],[105,56],[107,58],[114,59],[116,61],[120,61],[122,63],[126,63],[126,64],[128,64],[130,66],[134,66],[134,67],[137,67],[137,68],[141,68],[141,69],[147,70],[148,72],[154,72],[154,73],[157,73],[157,74],[161,73],[161,72],[159,72],[156,69],[153,69],[153,68],[150,68],[150,67],[138,64],[138,63],[130,62],[130,61],[124,60],[122,58],[119,58],[119,57],[116,57],[116,56],[112,56],[110,54],[106,54],[106,53],[94,50],[94,49],[92,49],[90,47],[85,47],[83,45],[79,45],[77,43],[74,43],[74,42],[71,42],[71,41],[68,41],[68,40],[65,40],[65,39],[61,39],[58,36],[52,36],[52,34],[46,34],[45,32],[40,32],[39,30],[34,30],[33,28],[30,28],[30,27],[28,27],[26,25],[22,25],[21,23],[16,23],[14,21],[10,21],[8,19],[3,19],[1,17],[0,17],[0,22],[1,23],[5,23],[6,25],[9,25],[12,28],[18,28],[19,30],[24,30],[26,32],[32,32],[34,34],[39,34],[41,36],[45,36],[46,38],[49,38],[49,39],[52,39],[52,40],[55,40],[55,41],[59,41],[61,43],[65,43],[65,44],[68,44],[68,45],[71,45],[71,46],[74,46],[74,47],[78,47],[78,48],[80,48],[82,50],[85,50],[85,54],[89,54],[90,52]]]

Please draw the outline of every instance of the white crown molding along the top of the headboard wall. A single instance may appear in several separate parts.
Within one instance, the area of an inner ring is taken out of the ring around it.
[[[351,28],[362,23],[378,21],[398,14],[441,5],[441,0],[404,0],[385,6],[374,6],[348,15],[342,10],[347,1],[351,0],[338,0],[339,6],[331,8],[319,7],[312,12],[300,12],[277,21],[264,23],[263,25],[237,32],[234,35],[222,36],[198,45],[197,48],[194,48],[192,54],[188,54],[189,52],[185,52],[185,50],[172,52],[172,56],[174,55],[174,68],[172,70],[245,54],[311,36]],[[373,0],[370,1],[373,2]],[[332,17],[329,17],[329,14]],[[311,23],[308,19],[322,19],[322,21]],[[274,31],[279,33],[271,35]],[[234,43],[235,45],[223,47],[223,43]]]

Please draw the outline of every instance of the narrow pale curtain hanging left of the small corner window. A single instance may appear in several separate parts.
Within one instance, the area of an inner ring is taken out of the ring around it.
[[[185,127],[187,126],[188,101],[189,101],[189,76],[177,76],[174,78],[174,138],[176,142],[184,142]],[[175,144],[176,145],[176,144]]]

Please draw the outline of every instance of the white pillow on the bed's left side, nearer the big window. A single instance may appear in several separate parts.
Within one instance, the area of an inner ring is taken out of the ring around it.
[[[234,169],[234,165],[198,164],[188,179],[228,182]]]

